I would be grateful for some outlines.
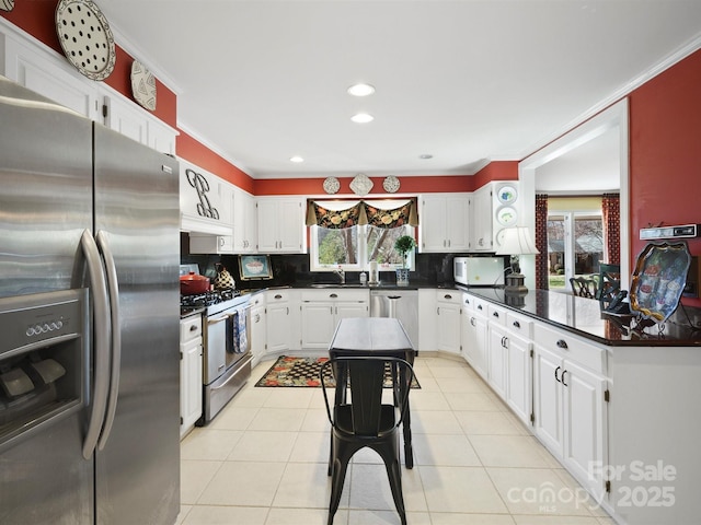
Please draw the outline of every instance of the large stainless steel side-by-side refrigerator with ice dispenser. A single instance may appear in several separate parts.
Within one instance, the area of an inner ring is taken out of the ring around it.
[[[0,523],[180,510],[177,163],[0,77]]]

